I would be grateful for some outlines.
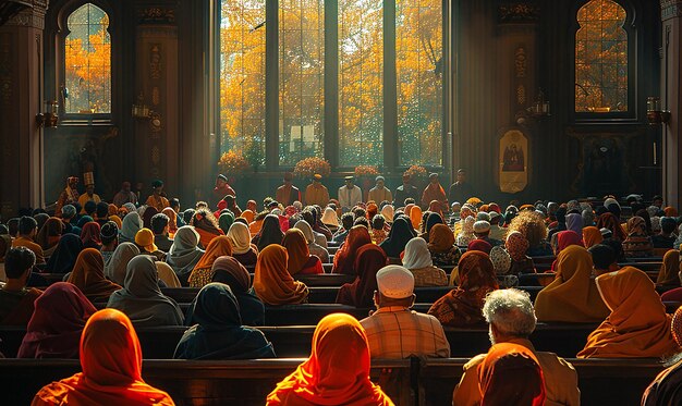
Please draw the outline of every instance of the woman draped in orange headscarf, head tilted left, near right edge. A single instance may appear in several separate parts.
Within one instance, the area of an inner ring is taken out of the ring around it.
[[[579,358],[659,358],[680,349],[646,273],[625,267],[597,276],[596,283],[611,313],[589,334]]]

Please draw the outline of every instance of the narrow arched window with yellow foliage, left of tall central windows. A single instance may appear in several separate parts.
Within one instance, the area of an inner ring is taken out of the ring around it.
[[[111,113],[111,37],[109,15],[85,3],[66,19],[64,42],[64,111],[66,114]]]

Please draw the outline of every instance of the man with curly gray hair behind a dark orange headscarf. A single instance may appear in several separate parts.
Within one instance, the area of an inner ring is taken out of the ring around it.
[[[545,377],[546,405],[580,405],[581,392],[573,366],[553,353],[536,352],[528,340],[537,318],[526,292],[509,288],[488,293],[483,316],[489,324],[491,344],[523,345],[535,354]],[[486,354],[480,354],[464,365],[464,374],[452,394],[453,406],[480,404],[477,367],[485,358]]]

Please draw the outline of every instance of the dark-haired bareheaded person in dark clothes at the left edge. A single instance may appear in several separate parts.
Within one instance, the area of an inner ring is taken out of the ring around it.
[[[15,247],[4,256],[7,282],[0,290],[0,325],[26,325],[34,311],[34,302],[41,291],[26,287],[36,256],[26,247]]]

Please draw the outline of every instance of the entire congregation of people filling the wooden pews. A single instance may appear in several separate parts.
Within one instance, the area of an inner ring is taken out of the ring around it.
[[[642,404],[682,404],[682,308],[663,304],[682,303],[682,218],[662,198],[502,206],[475,197],[464,170],[447,193],[437,174],[423,190],[410,175],[395,190],[348,176],[336,198],[322,181],[302,192],[287,173],[256,202],[220,175],[211,201],[182,210],[161,181],[144,204],[129,182],[107,202],[69,177],[53,213],[1,224],[0,325],[26,328],[17,357],[83,367],[34,404],[173,404],[142,377],[141,328],[186,327],[176,359],[276,358],[266,309],[313,303],[303,276],[326,273],[348,275],[336,303],[367,315],[319,320],[268,405],[392,405],[374,359],[449,358],[444,329],[480,327],[489,350],[464,366],[453,405],[580,405],[575,368],[534,347],[538,322],[598,325],[576,358],[665,360]],[[637,268],[656,258],[656,274]],[[534,300],[528,275],[550,281]],[[417,290],[437,286],[415,311]],[[166,288],[198,293],[183,310]]]

